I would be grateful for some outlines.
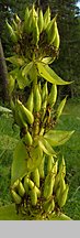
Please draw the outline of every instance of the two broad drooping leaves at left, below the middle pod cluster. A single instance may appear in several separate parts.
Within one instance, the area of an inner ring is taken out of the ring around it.
[[[18,178],[23,178],[26,174],[39,166],[43,159],[43,151],[38,144],[33,144],[27,152],[26,147],[19,141],[13,153],[13,163],[11,170],[11,184]]]

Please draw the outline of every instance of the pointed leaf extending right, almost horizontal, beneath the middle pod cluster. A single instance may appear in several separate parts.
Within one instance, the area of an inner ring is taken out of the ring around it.
[[[66,141],[70,139],[73,131],[61,131],[61,130],[49,130],[45,133],[44,138],[52,147],[58,147],[64,144]]]

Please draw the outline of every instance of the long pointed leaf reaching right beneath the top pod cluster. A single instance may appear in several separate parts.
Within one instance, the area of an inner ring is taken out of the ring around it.
[[[52,84],[68,85],[72,83],[62,80],[48,65],[45,65],[44,63],[38,62],[37,68],[39,75]]]

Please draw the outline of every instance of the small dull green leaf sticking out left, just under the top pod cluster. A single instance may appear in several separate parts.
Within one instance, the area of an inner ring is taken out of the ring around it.
[[[7,57],[5,60],[9,61],[10,63],[12,63],[15,66],[22,66],[24,64],[23,57],[19,57],[18,55]]]

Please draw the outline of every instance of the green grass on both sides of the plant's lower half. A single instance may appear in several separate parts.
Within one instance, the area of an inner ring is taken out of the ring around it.
[[[0,206],[11,203],[10,174],[13,150],[19,139],[19,128],[12,129],[11,115],[0,116]],[[75,130],[66,144],[57,148],[59,158],[66,160],[69,195],[64,212],[73,220],[80,220],[80,100],[68,100],[65,111],[56,127]]]

